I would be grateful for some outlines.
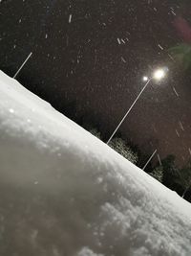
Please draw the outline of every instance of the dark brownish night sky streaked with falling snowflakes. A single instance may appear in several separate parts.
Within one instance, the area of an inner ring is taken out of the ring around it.
[[[0,68],[67,114],[97,120],[108,134],[144,85],[151,82],[120,128],[142,151],[158,149],[185,164],[191,156],[191,76],[168,49],[183,42],[175,23],[191,26],[191,1],[1,0]],[[176,93],[175,92],[178,93]]]

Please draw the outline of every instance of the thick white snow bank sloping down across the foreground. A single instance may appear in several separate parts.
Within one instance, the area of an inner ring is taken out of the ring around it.
[[[191,206],[0,73],[0,255],[191,255]]]

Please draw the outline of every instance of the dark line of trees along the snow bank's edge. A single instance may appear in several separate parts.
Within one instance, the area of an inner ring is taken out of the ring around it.
[[[81,109],[78,109],[79,107],[76,107],[76,105],[76,101],[73,101],[65,105],[64,110],[59,110],[97,138],[106,142],[111,131],[105,131],[104,120],[101,120],[101,116],[95,115],[92,109],[81,115]],[[141,151],[138,145],[133,144],[131,140],[124,137],[121,132],[117,132],[109,146],[139,168],[142,168],[150,157],[150,155]],[[191,162],[188,162],[183,168],[179,168],[176,165],[176,157],[168,155],[161,159],[161,163],[151,161],[145,172],[158,179],[160,183],[169,189],[176,191],[180,197],[191,202]]]

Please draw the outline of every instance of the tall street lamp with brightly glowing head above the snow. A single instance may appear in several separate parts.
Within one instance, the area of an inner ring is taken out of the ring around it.
[[[145,85],[143,86],[143,88],[139,92],[138,97],[136,98],[134,103],[130,106],[130,108],[127,110],[126,114],[124,115],[124,117],[121,119],[121,121],[118,124],[117,128],[115,129],[115,131],[112,133],[111,137],[107,141],[107,145],[110,143],[110,141],[112,140],[114,135],[117,133],[117,129],[122,125],[122,123],[124,122],[124,120],[128,116],[128,114],[131,112],[131,110],[134,107],[134,105],[136,105],[136,103],[138,102],[138,99],[140,98],[141,94],[146,89],[146,87],[150,83],[150,81],[152,81],[152,80],[154,80],[154,81],[161,81],[162,79],[165,78],[167,72],[168,72],[168,68],[167,67],[159,68],[156,71],[154,71],[153,76],[151,76],[151,78],[143,77],[143,81],[146,81]]]

